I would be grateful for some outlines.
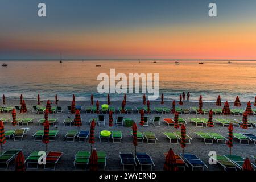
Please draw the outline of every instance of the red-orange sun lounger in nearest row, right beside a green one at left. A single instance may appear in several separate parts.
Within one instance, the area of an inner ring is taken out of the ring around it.
[[[46,155],[46,165],[44,169],[55,170],[56,164],[59,162],[63,152],[51,151]]]

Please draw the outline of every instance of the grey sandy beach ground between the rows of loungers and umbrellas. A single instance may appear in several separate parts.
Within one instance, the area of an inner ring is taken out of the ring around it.
[[[52,101],[54,103],[54,101]],[[177,103],[177,102],[176,102]],[[35,118],[34,123],[30,123],[28,126],[30,128],[30,131],[28,131],[27,135],[23,137],[23,141],[14,141],[13,139],[10,139],[3,145],[3,150],[9,150],[11,148],[22,148],[23,154],[25,158],[27,158],[28,155],[30,155],[31,152],[37,151],[37,150],[44,150],[44,144],[42,142],[35,142],[34,137],[32,135],[37,130],[43,130],[43,126],[38,126],[38,123],[36,123],[40,118],[43,118],[43,114],[32,114],[32,105],[37,105],[37,101],[26,101],[28,113],[25,115],[17,114],[17,118]],[[94,103],[95,104],[95,103]],[[100,102],[101,104],[106,104],[103,102]],[[230,107],[233,108],[233,103],[229,103]],[[19,105],[19,100],[6,100],[6,106],[14,106]],[[46,101],[43,101],[42,105],[46,105]],[[54,106],[55,104],[52,104]],[[50,142],[48,145],[48,150],[50,151],[62,151],[64,153],[63,157],[59,161],[59,163],[56,166],[56,170],[74,170],[75,167],[73,166],[73,161],[75,159],[75,155],[77,151],[80,150],[88,150],[90,151],[90,144],[89,143],[79,143],[79,142],[65,142],[65,134],[68,130],[74,130],[77,129],[76,126],[64,126],[63,121],[67,116],[73,117],[72,114],[67,113],[67,106],[71,105],[71,101],[59,101],[59,106],[63,106],[64,113],[62,114],[50,114],[49,118],[58,118],[57,127],[59,127],[59,134],[56,137],[55,142]],[[76,105],[82,106],[82,112],[81,112],[81,118],[82,118],[82,126],[81,130],[87,130],[89,131],[90,125],[89,125],[89,119],[93,117],[97,117],[97,114],[86,114],[85,113],[85,107],[90,106],[90,102],[76,102]],[[222,104],[224,105],[224,104]],[[114,101],[111,103],[111,106],[119,107],[121,106],[121,101]],[[127,102],[127,106],[133,107],[135,110],[135,107],[137,106],[143,106],[142,102]],[[165,107],[171,107],[171,102],[164,102]],[[198,106],[197,102],[184,102],[182,106],[179,106],[181,108],[189,108],[192,106]],[[154,107],[160,107],[160,102],[151,102],[151,108]],[[207,103],[204,102],[203,108],[214,108],[216,107],[214,103]],[[242,103],[242,107],[246,107],[246,103]],[[117,118],[118,115],[121,114],[113,114],[113,120]],[[151,118],[154,118],[154,116],[157,114],[149,114],[148,116]],[[162,114],[163,118],[174,118],[173,114]],[[212,132],[218,132],[225,137],[228,137],[228,128],[222,127],[222,125],[215,125],[213,128],[209,127],[196,127],[195,124],[189,122],[188,118],[196,117],[196,114],[189,114],[189,115],[180,115],[181,118],[184,118],[188,124],[187,124],[187,134],[190,135],[193,140],[192,144],[187,144],[187,147],[185,147],[185,152],[191,152],[192,154],[195,154],[199,156],[205,162],[208,166],[207,170],[222,170],[222,168],[218,165],[209,165],[208,164],[208,152],[209,151],[216,151],[217,154],[225,155],[229,154],[229,148],[226,145],[218,145],[216,142],[214,144],[204,144],[203,140],[196,136],[194,133],[195,131],[212,131]],[[199,116],[201,117],[201,116]],[[203,115],[202,117],[208,118],[208,115]],[[11,113],[9,114],[0,114],[0,118],[11,118]],[[132,138],[130,135],[131,128],[127,127],[109,127],[108,126],[108,114],[106,114],[106,120],[107,125],[105,127],[96,126],[96,143],[94,147],[97,150],[106,151],[107,155],[107,166],[106,170],[122,170],[122,166],[119,159],[119,152],[125,152],[125,151],[132,151],[134,152],[134,146],[132,143]],[[179,154],[182,150],[179,144],[170,144],[169,140],[167,138],[164,138],[164,135],[162,134],[163,131],[180,131],[180,129],[175,129],[174,127],[169,127],[161,121],[160,127],[154,127],[152,123],[150,123],[149,127],[142,127],[138,125],[140,115],[135,112],[134,114],[125,114],[125,118],[133,118],[134,121],[137,122],[138,131],[152,131],[156,134],[156,137],[158,138],[158,141],[156,144],[147,144],[146,140],[144,140],[143,144],[138,144],[137,146],[137,152],[147,152],[149,155],[151,155],[152,159],[154,160],[155,167],[154,170],[162,170],[163,169],[163,163],[164,163],[164,152],[167,152],[168,149],[171,147],[176,154]],[[222,118],[222,116],[216,116],[213,115],[213,118]],[[242,116],[229,116],[228,118],[234,118],[234,119],[242,119]],[[256,120],[256,117],[250,116],[249,119]],[[22,126],[16,126],[16,128],[20,128]],[[24,126],[23,126],[24,127]],[[11,125],[11,123],[5,124],[5,130],[14,129],[14,127]],[[53,129],[53,127],[50,128],[50,130]],[[113,143],[112,140],[110,140],[109,143],[100,143],[100,140],[98,139],[98,133],[101,130],[121,130],[123,132],[123,139],[122,143]],[[234,132],[236,133],[242,133],[244,132],[243,129],[234,128]],[[253,129],[247,129],[247,133],[256,134],[255,127]],[[250,145],[241,145],[240,142],[236,139],[234,139],[234,146],[232,148],[232,154],[240,155],[242,157],[250,156],[250,155],[256,155],[256,146],[250,142]],[[10,163],[9,166],[10,170],[14,169],[14,162]],[[139,167],[136,168],[139,170]],[[145,168],[149,169],[149,168]]]

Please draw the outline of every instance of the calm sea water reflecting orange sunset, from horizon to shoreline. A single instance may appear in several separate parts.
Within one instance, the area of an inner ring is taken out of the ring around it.
[[[204,101],[254,101],[256,95],[256,61],[6,61],[8,67],[0,68],[0,94],[8,98],[27,100],[54,99],[90,101],[90,94],[98,100],[106,100],[106,94],[97,93],[99,73],[159,73],[159,92],[166,100],[178,100],[179,94],[189,91],[191,100],[197,101],[200,94]],[[0,61],[2,64],[3,61]],[[96,67],[101,65],[101,67]],[[110,94],[111,100],[122,100],[123,94]],[[127,100],[137,101],[142,94],[127,94]],[[160,100],[160,98],[159,98]]]

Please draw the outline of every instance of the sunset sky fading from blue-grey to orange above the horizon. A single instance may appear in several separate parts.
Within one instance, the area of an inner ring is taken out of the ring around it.
[[[255,32],[255,0],[0,0],[0,59],[256,59]]]

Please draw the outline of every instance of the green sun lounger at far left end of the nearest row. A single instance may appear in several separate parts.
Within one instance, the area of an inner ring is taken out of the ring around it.
[[[4,166],[4,169],[8,169],[9,163],[16,158],[21,149],[7,150],[0,155],[0,166]]]

